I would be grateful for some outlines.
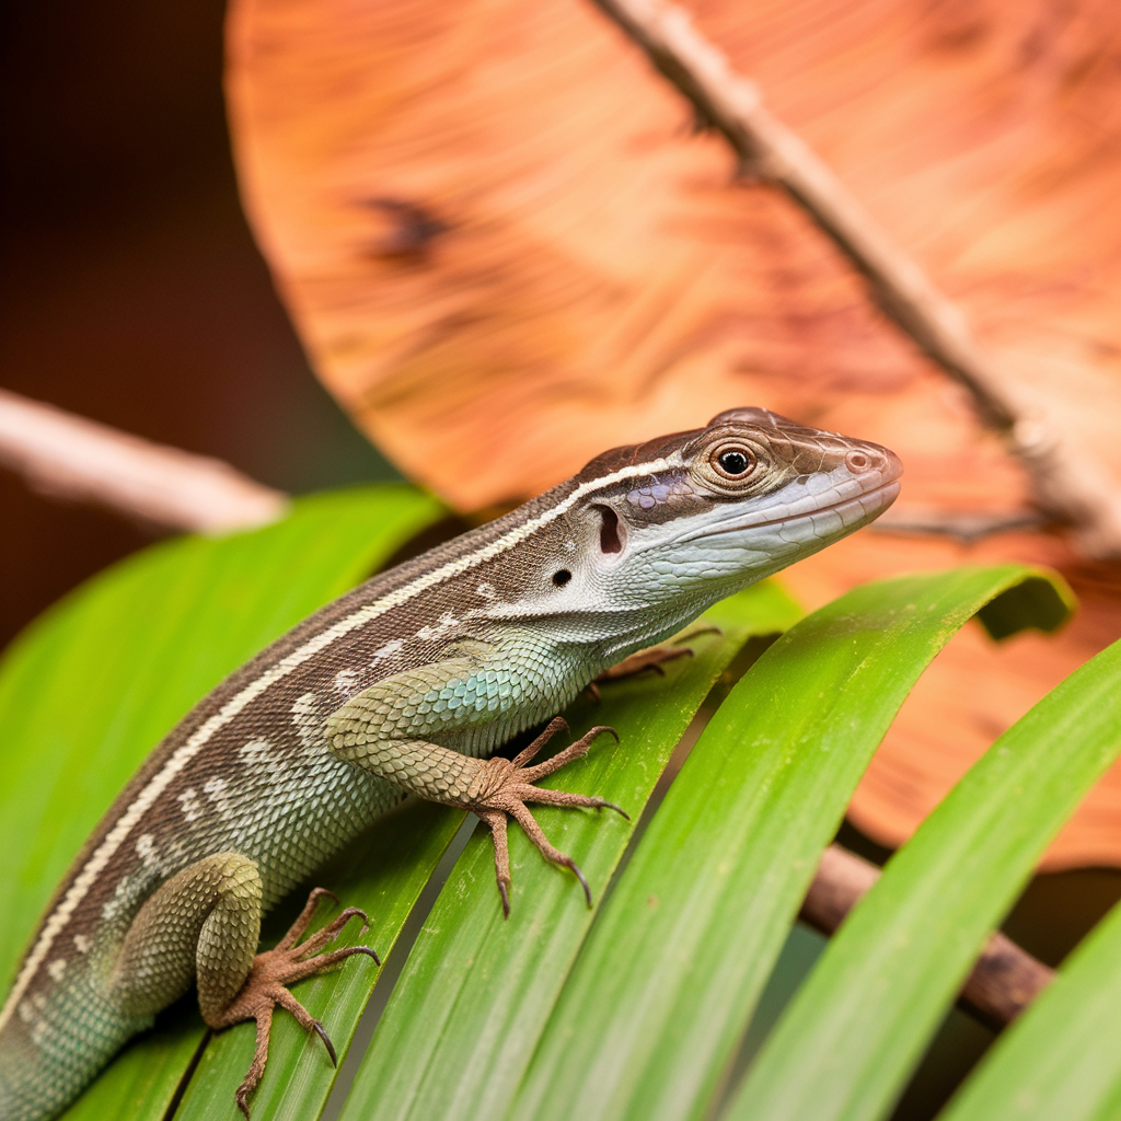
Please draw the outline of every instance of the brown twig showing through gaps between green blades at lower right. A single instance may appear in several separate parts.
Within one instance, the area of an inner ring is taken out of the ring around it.
[[[830,845],[822,853],[800,917],[823,934],[833,934],[879,878],[880,870],[874,864],[839,845]],[[1054,970],[998,932],[985,944],[957,1000],[967,1012],[999,1031],[1054,976]]]

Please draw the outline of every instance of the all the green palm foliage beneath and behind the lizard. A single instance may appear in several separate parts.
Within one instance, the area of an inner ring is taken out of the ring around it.
[[[437,516],[402,487],[304,500],[254,534],[140,554],[13,646],[0,665],[0,966],[11,971],[85,834],[175,720]],[[573,733],[612,724],[621,745],[601,739],[548,785],[600,794],[632,821],[547,807],[536,816],[582,864],[595,908],[513,827],[513,911],[503,920],[489,839],[473,835],[408,952],[345,1121],[716,1115],[723,1073],[818,854],[919,674],[973,615],[1006,636],[1053,629],[1068,610],[1056,577],[1022,566],[884,581],[797,622],[733,686],[729,667],[749,660],[738,657],[748,640],[797,619],[763,584],[714,609],[721,633],[695,637],[695,657],[666,678],[611,685],[601,705],[578,702],[566,714]],[[1119,685],[1115,647],[962,780],[833,939],[733,1090],[730,1121],[889,1115],[986,933],[1121,750]],[[707,726],[665,800],[640,816],[698,713]],[[404,953],[395,943],[461,822],[406,805],[317,882],[370,912],[362,941]],[[359,957],[298,986],[340,1054],[380,975]],[[948,1117],[1114,1115],[1119,995],[1114,916]],[[201,1048],[175,1115],[232,1121],[252,1039],[241,1025],[206,1040],[185,1001],[67,1117],[163,1118]],[[319,1041],[279,1013],[254,1117],[315,1118],[335,1077]]]

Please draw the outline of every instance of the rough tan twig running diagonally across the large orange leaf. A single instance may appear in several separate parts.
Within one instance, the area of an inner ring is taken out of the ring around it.
[[[762,105],[756,85],[663,0],[594,0],[654,66],[719,130],[743,172],[781,186],[863,275],[883,312],[970,393],[982,424],[999,433],[1028,472],[1036,506],[1077,532],[1086,554],[1121,557],[1121,487],[1043,411],[1019,401],[978,345],[961,309],[896,245],[817,155]]]

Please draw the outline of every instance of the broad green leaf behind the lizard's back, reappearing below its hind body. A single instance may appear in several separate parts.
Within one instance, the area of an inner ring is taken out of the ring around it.
[[[17,639],[0,665],[0,972],[10,975],[55,883],[164,733],[439,513],[398,485],[302,499],[252,534],[146,549]],[[67,1115],[161,1117],[200,1034],[197,1013],[180,1011]]]

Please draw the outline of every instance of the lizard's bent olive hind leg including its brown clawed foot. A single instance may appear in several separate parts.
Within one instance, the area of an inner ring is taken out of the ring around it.
[[[235,1094],[238,1108],[248,1118],[248,1097],[265,1072],[277,1004],[317,1032],[332,1063],[336,1062],[323,1025],[287,985],[321,973],[351,954],[369,954],[378,961],[367,946],[318,953],[350,919],[361,917],[365,921],[365,915],[355,907],[346,908],[297,945],[324,895],[331,892],[316,888],[284,938],[259,954],[261,878],[257,864],[232,852],[200,860],[163,884],[132,920],[113,970],[110,999],[126,1015],[143,1016],[165,1008],[195,980],[198,1006],[210,1027],[256,1020],[253,1060]]]

